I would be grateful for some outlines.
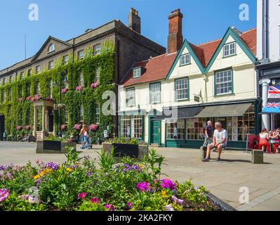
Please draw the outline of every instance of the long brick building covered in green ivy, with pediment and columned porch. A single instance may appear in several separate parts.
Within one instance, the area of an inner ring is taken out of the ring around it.
[[[0,71],[0,140],[4,131],[11,140],[28,132],[37,139],[58,135],[60,124],[65,134],[76,135],[81,121],[98,124],[93,141],[107,126],[116,134],[117,117],[102,115],[102,94],[117,91],[135,61],[165,52],[141,35],[133,8],[128,26],[113,20],[67,41],[48,37],[35,56]]]

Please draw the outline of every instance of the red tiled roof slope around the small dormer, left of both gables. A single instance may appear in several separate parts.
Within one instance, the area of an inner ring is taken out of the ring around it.
[[[134,63],[133,68],[142,67],[142,75],[139,78],[133,79],[133,70],[129,71],[128,76],[122,82],[124,86],[131,86],[134,84],[142,84],[147,82],[154,82],[160,79],[165,79],[177,53],[164,54],[156,56],[149,60]]]

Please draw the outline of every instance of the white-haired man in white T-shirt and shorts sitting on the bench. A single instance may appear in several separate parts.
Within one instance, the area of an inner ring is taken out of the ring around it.
[[[209,162],[210,153],[212,148],[218,148],[218,161],[220,161],[220,155],[222,153],[222,148],[227,146],[227,131],[222,129],[221,122],[215,122],[215,131],[213,136],[213,143],[207,146],[207,155],[203,160],[204,162]]]

